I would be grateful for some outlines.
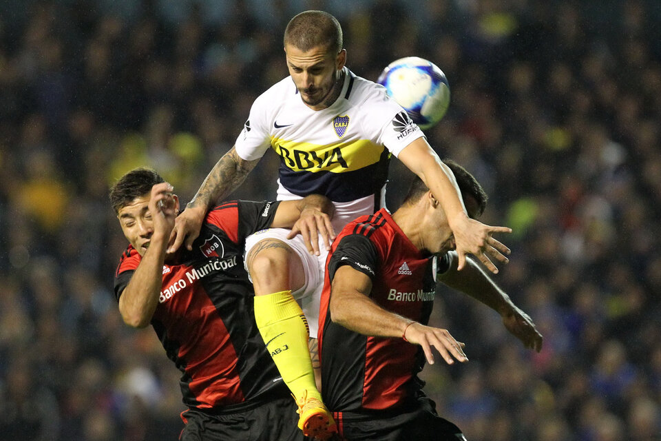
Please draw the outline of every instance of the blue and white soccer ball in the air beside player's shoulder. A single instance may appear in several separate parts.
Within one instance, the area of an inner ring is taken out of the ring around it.
[[[450,105],[450,85],[437,65],[420,57],[393,61],[378,80],[421,129],[441,121]]]

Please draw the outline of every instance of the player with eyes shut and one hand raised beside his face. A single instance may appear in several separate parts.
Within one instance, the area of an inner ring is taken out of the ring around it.
[[[120,314],[133,327],[151,323],[182,372],[189,410],[180,440],[303,440],[295,402],[255,324],[242,253],[249,234],[304,228],[304,211],[318,214],[329,201],[227,202],[207,214],[191,250],[166,255],[179,209],[169,183],[136,169],[110,200],[130,243],[115,274]]]

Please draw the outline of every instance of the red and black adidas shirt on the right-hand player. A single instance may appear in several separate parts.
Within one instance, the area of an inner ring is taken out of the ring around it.
[[[377,305],[426,324],[433,307],[436,274],[448,269],[450,260],[423,255],[386,209],[380,209],[346,225],[326,262],[319,314],[324,402],[336,412],[399,407],[422,387],[417,378],[425,362],[421,347],[401,338],[357,334],[330,320],[330,286],[335,271],[342,265],[361,271],[372,280],[370,298]]]

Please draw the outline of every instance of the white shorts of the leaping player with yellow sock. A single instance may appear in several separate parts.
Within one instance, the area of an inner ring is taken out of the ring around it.
[[[311,338],[317,338],[317,329],[319,329],[319,302],[322,297],[322,289],[324,289],[324,271],[326,269],[326,245],[324,239],[319,236],[319,256],[315,256],[308,252],[303,242],[303,236],[297,234],[293,239],[288,239],[287,235],[290,230],[285,228],[269,228],[262,229],[259,232],[253,233],[246,238],[246,247],[244,256],[247,256],[252,247],[254,247],[262,239],[278,239],[289,245],[291,249],[300,258],[303,265],[303,272],[305,276],[305,283],[291,295],[296,299],[298,304],[308,320],[308,327],[310,328]],[[244,266],[250,278],[250,271],[248,271],[247,264],[244,259]],[[253,279],[250,278],[252,282]]]

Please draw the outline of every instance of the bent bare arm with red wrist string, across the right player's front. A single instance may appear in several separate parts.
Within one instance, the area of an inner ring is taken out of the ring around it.
[[[366,274],[348,265],[335,271],[330,291],[330,318],[333,322],[367,336],[406,338],[421,345],[427,361],[434,364],[431,347],[435,347],[448,365],[456,358],[468,361],[461,347],[446,329],[421,325],[390,311],[386,311],[369,298],[372,280]]]

